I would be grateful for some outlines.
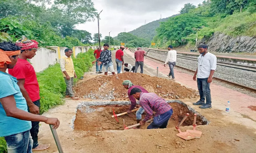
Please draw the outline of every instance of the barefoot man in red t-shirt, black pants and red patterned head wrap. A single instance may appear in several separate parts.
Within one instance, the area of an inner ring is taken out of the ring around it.
[[[17,84],[20,87],[23,97],[26,99],[28,105],[28,112],[32,114],[38,114],[40,111],[40,95],[39,85],[37,82],[35,70],[33,66],[27,61],[32,59],[36,54],[38,48],[38,42],[35,40],[26,39],[26,37],[17,41],[16,46],[21,47],[21,54],[17,60],[13,69],[9,69],[8,72],[12,76],[17,78]],[[32,128],[30,134],[33,139],[32,151],[40,151],[48,149],[50,144],[38,144],[38,132],[39,122],[31,121]]]

